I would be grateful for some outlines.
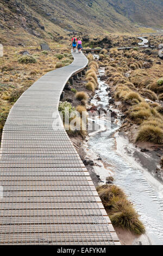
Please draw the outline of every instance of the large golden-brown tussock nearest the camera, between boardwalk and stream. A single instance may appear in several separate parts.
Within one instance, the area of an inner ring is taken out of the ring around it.
[[[129,230],[135,235],[145,233],[139,215],[121,188],[115,185],[103,185],[97,187],[97,192],[113,225]]]

